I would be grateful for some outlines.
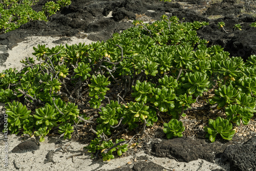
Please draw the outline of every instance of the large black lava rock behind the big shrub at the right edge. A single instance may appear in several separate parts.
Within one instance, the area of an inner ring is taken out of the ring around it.
[[[218,28],[218,23],[224,22],[223,29]],[[247,23],[246,23],[247,22]],[[256,18],[243,14],[239,17],[226,16],[210,22],[208,26],[200,28],[198,36],[209,41],[208,46],[220,45],[231,56],[240,56],[246,61],[250,55],[256,54],[256,28],[249,24],[256,22]],[[242,30],[233,30],[234,24],[242,23]]]

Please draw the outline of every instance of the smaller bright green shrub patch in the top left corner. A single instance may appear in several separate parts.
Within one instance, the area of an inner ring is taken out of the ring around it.
[[[48,22],[48,16],[71,4],[71,0],[59,0],[56,3],[50,1],[45,4],[42,11],[36,12],[31,6],[36,5],[37,2],[34,0],[2,0],[0,3],[0,34],[15,30],[32,20]]]

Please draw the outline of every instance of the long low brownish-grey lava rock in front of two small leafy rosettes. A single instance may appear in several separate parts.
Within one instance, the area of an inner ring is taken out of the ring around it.
[[[152,152],[157,157],[175,158],[180,162],[203,159],[214,162],[229,143],[209,143],[205,139],[174,138],[154,143]]]

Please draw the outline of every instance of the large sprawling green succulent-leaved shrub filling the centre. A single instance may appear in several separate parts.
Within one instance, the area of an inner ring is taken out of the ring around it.
[[[207,24],[163,15],[153,24],[135,20],[105,42],[34,47],[37,60],[26,58],[21,71],[0,73],[8,130],[42,142],[53,128],[66,139],[86,123],[94,134],[86,149],[110,161],[158,120],[167,138],[181,137],[185,111],[209,108],[214,114],[204,127],[206,138],[231,140],[232,125],[248,124],[255,113],[256,56],[244,62],[221,46],[207,47],[196,32]],[[206,105],[191,107],[211,89],[215,95]],[[220,110],[226,115],[215,119]],[[118,137],[134,130],[130,140]]]

